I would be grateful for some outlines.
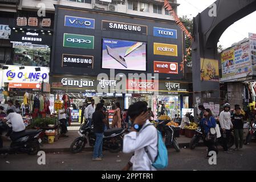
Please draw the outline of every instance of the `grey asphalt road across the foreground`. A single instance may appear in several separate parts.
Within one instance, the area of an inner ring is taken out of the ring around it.
[[[169,151],[169,166],[165,170],[256,170],[256,143],[244,146],[242,151],[234,154],[225,154],[220,148],[217,156],[217,165],[209,165],[205,159],[206,147],[197,147],[195,150],[182,148],[176,152],[173,148]],[[131,155],[121,152],[112,154],[104,151],[101,162],[91,160],[92,152],[70,154],[68,152],[46,153],[46,164],[38,165],[39,156],[26,154],[0,156],[0,170],[120,170],[129,160]]]

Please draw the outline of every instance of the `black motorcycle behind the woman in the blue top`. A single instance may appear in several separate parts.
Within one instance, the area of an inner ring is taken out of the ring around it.
[[[220,125],[219,125],[220,126]],[[221,129],[220,129],[221,130]],[[221,135],[222,137],[217,138],[217,144],[220,144],[220,146],[224,146],[223,143],[223,134]],[[200,140],[204,140],[204,131],[202,129],[201,126],[198,126],[196,129],[196,133],[194,134],[194,136],[192,137],[192,139],[190,140],[189,143],[189,148],[191,150],[193,150],[194,148],[196,148],[196,146],[198,145],[198,143],[200,142]],[[232,147],[234,144],[234,134],[233,134],[233,130],[231,131],[230,137],[229,137],[229,143],[227,143],[227,147],[230,148]]]

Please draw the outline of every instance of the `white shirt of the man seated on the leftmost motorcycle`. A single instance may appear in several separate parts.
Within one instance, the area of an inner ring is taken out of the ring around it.
[[[26,126],[24,125],[21,114],[9,113],[6,119],[10,120],[11,127],[13,127],[14,132],[18,132],[26,129]]]

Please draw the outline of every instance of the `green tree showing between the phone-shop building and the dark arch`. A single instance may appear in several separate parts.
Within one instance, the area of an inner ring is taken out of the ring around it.
[[[189,19],[188,16],[182,16],[180,18],[181,22],[183,22],[186,29],[189,31],[190,34],[193,32],[193,19]],[[185,48],[186,48],[186,65],[192,67],[192,56],[191,56],[191,46],[192,42],[185,36]],[[184,55],[184,56],[185,56]]]

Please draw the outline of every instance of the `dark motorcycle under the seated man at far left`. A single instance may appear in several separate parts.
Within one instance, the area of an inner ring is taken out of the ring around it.
[[[6,123],[0,122],[0,130],[6,130],[8,125]],[[26,152],[29,155],[36,155],[40,150],[40,135],[43,130],[25,130],[21,133],[11,137],[10,147],[0,148],[0,154],[15,154],[17,152]],[[0,132],[2,133],[2,132]],[[0,136],[1,137],[1,136]]]

